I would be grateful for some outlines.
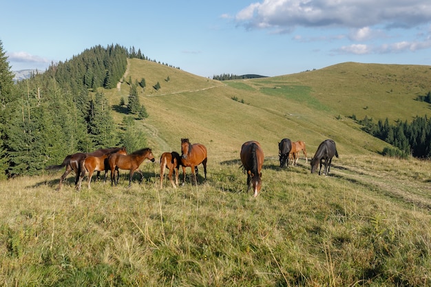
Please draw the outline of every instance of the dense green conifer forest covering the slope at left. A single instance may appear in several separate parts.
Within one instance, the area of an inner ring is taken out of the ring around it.
[[[98,45],[14,83],[0,41],[0,178],[37,174],[78,151],[142,148],[145,136],[135,118],[114,125],[111,106],[98,89],[116,86],[129,55],[120,45]],[[142,116],[145,109],[138,105]]]

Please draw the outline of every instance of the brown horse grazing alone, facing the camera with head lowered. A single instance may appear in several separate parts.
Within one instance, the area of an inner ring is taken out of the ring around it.
[[[262,166],[264,164],[264,152],[260,143],[255,140],[244,142],[241,147],[240,158],[244,173],[247,174],[247,191],[253,184],[253,197],[260,193],[262,187]]]

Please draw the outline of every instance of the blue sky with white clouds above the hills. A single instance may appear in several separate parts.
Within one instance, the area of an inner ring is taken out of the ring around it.
[[[12,70],[119,44],[199,76],[278,76],[354,61],[431,65],[429,0],[5,1]]]

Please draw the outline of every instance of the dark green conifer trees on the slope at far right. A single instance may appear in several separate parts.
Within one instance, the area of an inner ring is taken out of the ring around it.
[[[377,123],[367,116],[363,120],[357,120],[355,115],[352,118],[362,125],[362,129],[368,134],[395,147],[383,149],[383,155],[431,158],[431,123],[426,115],[416,116],[411,123],[407,120],[397,120],[395,125],[390,125],[388,118],[384,121],[379,120]]]

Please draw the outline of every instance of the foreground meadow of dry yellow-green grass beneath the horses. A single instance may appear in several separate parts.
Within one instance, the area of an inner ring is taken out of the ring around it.
[[[158,189],[103,182],[77,193],[59,174],[3,183],[3,286],[428,286],[430,171],[419,160],[335,159],[332,176],[264,164],[258,198],[238,161],[207,182]],[[373,173],[380,173],[375,176]],[[401,175],[396,180],[395,178]],[[411,182],[410,189],[405,187]],[[7,192],[8,190],[8,192]]]

